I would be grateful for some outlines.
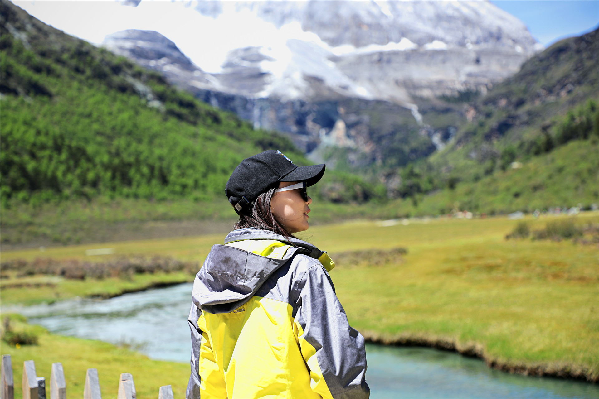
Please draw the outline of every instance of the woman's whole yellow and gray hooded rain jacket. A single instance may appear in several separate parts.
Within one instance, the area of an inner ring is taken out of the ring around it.
[[[368,398],[364,337],[332,267],[326,252],[265,230],[214,245],[193,283],[187,398]]]

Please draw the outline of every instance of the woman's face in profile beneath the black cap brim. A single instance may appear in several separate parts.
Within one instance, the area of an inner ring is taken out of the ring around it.
[[[287,187],[288,185],[296,184],[297,181],[282,181],[279,182],[279,188]],[[299,188],[297,190],[281,191],[274,193],[270,200],[270,211],[281,226],[289,234],[305,232],[310,227],[308,223],[308,212],[312,199],[308,196],[308,200],[304,201]]]

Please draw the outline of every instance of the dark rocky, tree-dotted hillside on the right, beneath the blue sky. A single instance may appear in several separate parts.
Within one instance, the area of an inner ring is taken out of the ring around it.
[[[462,187],[480,192],[477,187],[488,176],[501,176],[506,170],[533,162],[573,140],[585,141],[591,157],[577,162],[587,172],[566,168],[562,180],[575,186],[597,185],[599,165],[599,30],[564,39],[532,57],[521,71],[465,106],[464,124],[455,138],[426,160],[419,160],[399,173],[395,195],[422,198],[426,193]],[[595,154],[595,156],[592,156]],[[562,156],[565,156],[562,155]],[[549,157],[548,159],[551,159]],[[547,165],[557,167],[556,165]],[[563,168],[562,168],[563,169]],[[589,176],[591,180],[589,180]],[[530,185],[525,191],[544,197],[551,181]],[[484,191],[484,190],[482,190]],[[568,192],[573,203],[580,202]],[[486,202],[477,198],[475,202]],[[543,206],[555,205],[549,197]],[[543,202],[541,200],[541,202]],[[582,201],[597,202],[597,190],[588,191]],[[504,208],[504,207],[502,207]],[[491,209],[480,208],[490,211]],[[513,209],[516,210],[516,209]]]

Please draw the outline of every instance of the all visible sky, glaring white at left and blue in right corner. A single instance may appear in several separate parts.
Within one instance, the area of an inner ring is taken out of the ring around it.
[[[286,37],[314,39],[311,36],[316,36],[302,32],[299,23],[290,24],[286,28],[291,30],[289,32],[280,32],[270,23],[256,21],[243,12],[224,13],[228,20],[223,21],[221,17],[216,20],[189,10],[189,1],[143,0],[135,8],[110,0],[17,0],[14,3],[48,25],[94,44],[100,44],[107,34],[125,29],[160,32],[206,72],[218,72],[220,63],[232,48],[276,42],[277,38],[282,41],[277,47],[283,48]],[[522,20],[534,38],[546,47],[558,39],[588,32],[599,25],[599,0],[493,0],[492,3]],[[223,4],[233,6],[232,2]],[[222,29],[223,24],[237,29]]]

